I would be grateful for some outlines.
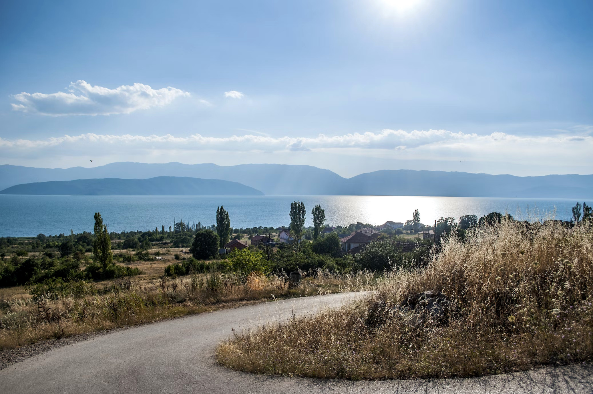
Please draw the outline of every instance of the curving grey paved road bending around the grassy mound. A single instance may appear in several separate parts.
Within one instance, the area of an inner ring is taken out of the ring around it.
[[[262,303],[107,333],[0,370],[0,393],[591,393],[591,364],[471,379],[268,377],[216,365],[231,328],[337,307],[360,293]]]

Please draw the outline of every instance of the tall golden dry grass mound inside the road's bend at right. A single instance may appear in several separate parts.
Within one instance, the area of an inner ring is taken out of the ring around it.
[[[593,231],[503,221],[451,239],[428,268],[394,272],[368,303],[327,310],[223,342],[235,370],[302,377],[467,377],[593,359]],[[448,321],[417,324],[402,301],[448,295]],[[375,304],[377,305],[377,304]]]

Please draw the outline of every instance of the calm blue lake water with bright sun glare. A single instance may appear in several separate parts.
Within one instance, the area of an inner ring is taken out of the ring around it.
[[[292,201],[311,209],[321,204],[327,224],[382,224],[387,220],[405,222],[414,209],[424,224],[440,217],[489,212],[508,212],[521,220],[556,218],[569,220],[572,199],[509,199],[470,197],[404,196],[18,196],[0,195],[0,236],[26,237],[93,231],[93,214],[101,212],[110,231],[168,228],[185,218],[186,223],[216,223],[216,207],[224,205],[232,227],[279,226],[290,223]]]

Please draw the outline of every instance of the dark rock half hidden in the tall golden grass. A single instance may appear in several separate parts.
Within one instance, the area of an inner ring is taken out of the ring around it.
[[[423,325],[427,321],[447,324],[451,301],[440,291],[429,290],[408,297],[400,304],[400,310],[410,312],[410,322]]]

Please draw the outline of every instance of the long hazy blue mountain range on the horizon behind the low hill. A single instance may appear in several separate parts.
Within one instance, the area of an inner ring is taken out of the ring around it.
[[[0,190],[31,182],[76,179],[148,179],[160,176],[238,182],[266,195],[394,195],[518,198],[591,198],[593,175],[474,174],[445,171],[381,170],[344,178],[313,166],[288,164],[130,163],[99,167],[43,169],[0,166]]]

